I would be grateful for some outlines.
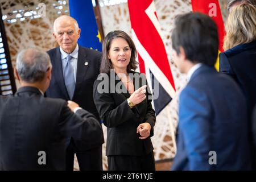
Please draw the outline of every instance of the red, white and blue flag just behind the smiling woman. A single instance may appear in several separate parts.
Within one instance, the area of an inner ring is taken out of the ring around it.
[[[175,84],[172,77],[166,48],[161,37],[160,24],[153,0],[128,0],[132,37],[138,50],[139,69],[146,73],[150,84],[150,73],[159,81],[159,97],[154,99],[156,114],[174,97]],[[152,82],[154,82],[152,80]],[[150,85],[152,88],[152,85]],[[164,94],[162,91],[165,92]],[[163,93],[163,94],[162,94]],[[159,101],[159,102],[158,102]],[[162,102],[162,103],[161,103]]]

